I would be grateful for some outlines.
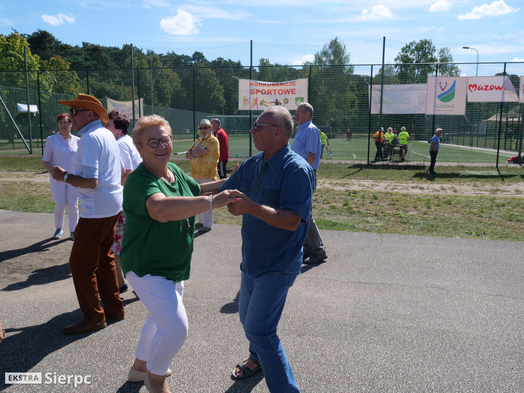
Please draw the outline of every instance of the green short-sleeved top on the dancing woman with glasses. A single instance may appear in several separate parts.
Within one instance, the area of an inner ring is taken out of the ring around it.
[[[200,195],[198,183],[174,163],[168,162],[168,168],[174,174],[173,183],[159,179],[143,164],[126,180],[123,203],[126,227],[120,254],[124,275],[133,271],[138,277],[150,274],[172,281],[189,278],[195,217],[161,223],[152,219],[146,208],[146,200],[155,193],[166,196]]]

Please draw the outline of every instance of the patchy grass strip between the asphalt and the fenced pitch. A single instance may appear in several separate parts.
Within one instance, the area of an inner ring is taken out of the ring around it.
[[[175,162],[191,174],[189,161]],[[230,161],[228,170],[236,162]],[[0,209],[53,212],[49,183],[31,180],[45,172],[41,157],[0,156],[0,167],[7,172],[0,174]],[[498,170],[467,166],[438,169],[440,176],[431,178],[424,165],[382,167],[323,160],[319,188],[313,196],[317,225],[336,231],[524,241],[524,197],[520,189],[524,170],[520,166]],[[17,172],[24,172],[19,180],[2,180]],[[383,182],[394,182],[398,187],[381,187]],[[359,183],[362,185],[355,189]],[[429,192],[430,186],[443,193]],[[487,190],[488,194],[464,194],[465,187]],[[410,192],[402,192],[408,189]],[[501,195],[502,189],[514,192],[512,196]],[[214,222],[239,224],[241,217],[232,216],[227,209],[217,209]]]

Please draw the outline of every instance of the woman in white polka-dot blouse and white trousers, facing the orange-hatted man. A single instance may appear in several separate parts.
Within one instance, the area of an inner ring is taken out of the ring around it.
[[[54,180],[51,176],[52,167],[62,167],[70,173],[74,169],[74,156],[77,153],[78,136],[71,135],[72,121],[67,113],[57,116],[59,133],[46,139],[43,150],[42,165],[49,172],[51,182],[51,196],[54,202],[54,232],[53,239],[62,237],[65,206],[68,209],[70,238],[74,240],[74,230],[78,223],[78,194],[77,188],[63,181]]]

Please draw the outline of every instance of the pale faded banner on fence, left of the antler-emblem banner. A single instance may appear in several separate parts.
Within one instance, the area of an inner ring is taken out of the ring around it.
[[[371,114],[380,114],[380,85],[369,86]],[[383,90],[382,113],[385,115],[402,115],[425,113],[426,85],[385,84]]]

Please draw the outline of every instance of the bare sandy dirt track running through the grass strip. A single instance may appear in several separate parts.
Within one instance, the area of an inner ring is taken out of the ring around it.
[[[37,183],[49,182],[49,173],[0,172],[0,181],[34,181]],[[409,194],[460,194],[460,195],[500,195],[524,196],[524,182],[497,184],[471,182],[468,184],[438,184],[420,182],[377,181],[368,179],[358,180],[319,180],[318,188],[334,190],[368,190],[393,191]]]

